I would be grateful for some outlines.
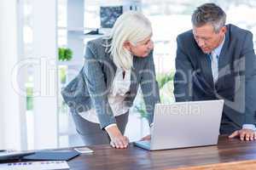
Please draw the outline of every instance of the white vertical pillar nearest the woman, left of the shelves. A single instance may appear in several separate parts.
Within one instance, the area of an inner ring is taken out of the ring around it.
[[[56,0],[32,1],[33,57],[39,61],[34,83],[39,92],[33,109],[35,149],[57,146],[56,9]]]

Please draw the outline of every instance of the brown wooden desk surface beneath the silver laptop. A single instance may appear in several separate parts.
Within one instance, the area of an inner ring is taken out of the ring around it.
[[[132,144],[127,150],[113,149],[109,145],[94,145],[90,148],[95,151],[93,154],[81,155],[68,161],[71,169],[172,169],[256,160],[256,141],[240,141],[228,139],[226,136],[220,136],[218,145],[215,146],[179,150],[148,151]],[[250,164],[255,166],[252,161]]]

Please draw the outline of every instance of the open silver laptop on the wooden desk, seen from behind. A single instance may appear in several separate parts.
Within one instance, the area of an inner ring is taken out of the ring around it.
[[[156,104],[151,140],[134,144],[146,150],[218,144],[223,106],[223,99]]]

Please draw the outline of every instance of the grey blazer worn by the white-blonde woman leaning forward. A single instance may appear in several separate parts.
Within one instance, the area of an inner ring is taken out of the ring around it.
[[[116,122],[108,103],[117,70],[106,44],[108,40],[98,38],[87,42],[84,54],[84,67],[79,75],[61,91],[62,97],[76,112],[96,109],[101,127]],[[133,57],[130,92],[125,97],[125,105],[131,106],[139,85],[143,92],[149,123],[153,122],[154,105],[160,101],[159,88],[155,80],[153,51],[148,57]]]

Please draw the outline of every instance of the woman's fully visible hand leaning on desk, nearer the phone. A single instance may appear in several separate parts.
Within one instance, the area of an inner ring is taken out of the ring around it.
[[[128,147],[129,139],[119,131],[117,126],[108,127],[106,131],[111,139],[110,144],[113,148],[125,149]]]

